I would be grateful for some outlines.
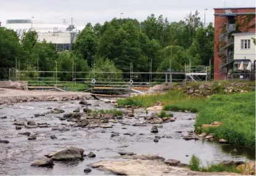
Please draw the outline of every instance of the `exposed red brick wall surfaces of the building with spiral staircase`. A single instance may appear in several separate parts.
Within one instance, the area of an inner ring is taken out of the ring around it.
[[[255,9],[231,9],[233,13],[246,13],[246,12],[255,12]],[[215,14],[223,14],[223,9],[215,9]],[[242,24],[246,20],[246,15],[237,15],[236,24]],[[225,79],[226,73],[222,73],[220,70],[220,65],[223,64],[223,61],[220,58],[220,54],[218,52],[218,47],[220,44],[220,31],[222,27],[228,23],[228,17],[220,17],[220,15],[215,15],[214,20],[214,79]],[[252,32],[255,31],[255,14],[254,18],[250,20],[250,22],[244,26],[240,25],[238,28],[241,32]]]

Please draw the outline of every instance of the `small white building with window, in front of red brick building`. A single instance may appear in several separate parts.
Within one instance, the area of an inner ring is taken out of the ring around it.
[[[249,62],[255,65],[255,45],[252,38],[254,33],[234,33],[234,71],[236,71],[241,62],[244,68],[247,68]]]

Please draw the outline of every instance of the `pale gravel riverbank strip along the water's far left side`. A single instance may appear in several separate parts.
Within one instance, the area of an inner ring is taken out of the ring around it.
[[[22,102],[67,101],[93,99],[85,92],[57,92],[0,88],[0,105]]]

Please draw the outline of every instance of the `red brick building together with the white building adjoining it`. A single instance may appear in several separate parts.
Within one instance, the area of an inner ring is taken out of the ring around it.
[[[255,72],[255,7],[214,10],[214,79],[229,79],[241,63]]]

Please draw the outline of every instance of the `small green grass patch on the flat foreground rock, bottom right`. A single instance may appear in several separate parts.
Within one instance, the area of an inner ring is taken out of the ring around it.
[[[194,154],[189,161],[189,169],[200,172],[233,172],[241,173],[241,170],[237,169],[236,166],[225,166],[224,164],[209,164],[208,166],[200,166],[201,161]]]

